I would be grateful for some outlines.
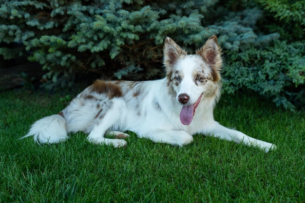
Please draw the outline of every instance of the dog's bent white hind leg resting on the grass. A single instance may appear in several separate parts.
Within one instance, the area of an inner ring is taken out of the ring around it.
[[[98,122],[96,122],[93,126],[93,129],[89,133],[87,140],[93,144],[113,145],[115,148],[124,147],[125,145],[127,145],[127,142],[125,140],[109,139],[104,137],[105,133],[109,129],[111,129],[118,122],[120,122],[120,119],[123,116],[122,114],[124,114],[124,105],[124,101],[114,100],[112,107],[109,108],[102,117],[96,118],[98,119]]]

